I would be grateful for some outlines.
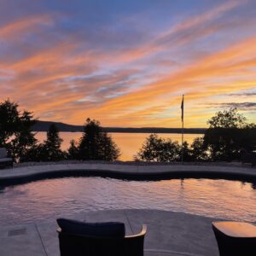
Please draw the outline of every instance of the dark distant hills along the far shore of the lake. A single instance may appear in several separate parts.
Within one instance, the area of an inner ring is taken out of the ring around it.
[[[60,131],[76,132],[83,131],[82,125],[67,125],[60,122],[39,121],[33,126],[33,131],[48,131],[49,125],[55,124]],[[159,127],[142,127],[142,128],[119,128],[119,127],[103,127],[103,131],[107,132],[129,132],[129,133],[181,133],[181,128],[159,128]],[[185,128],[184,133],[202,134],[205,128]]]

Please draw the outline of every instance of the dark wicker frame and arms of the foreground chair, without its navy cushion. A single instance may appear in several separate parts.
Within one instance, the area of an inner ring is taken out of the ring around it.
[[[147,227],[133,236],[84,236],[57,230],[61,256],[143,256]]]

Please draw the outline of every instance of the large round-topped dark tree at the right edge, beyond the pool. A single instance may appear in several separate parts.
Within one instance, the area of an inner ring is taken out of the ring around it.
[[[219,111],[207,121],[210,125],[205,132],[204,147],[210,152],[211,160],[239,160],[241,148],[256,146],[255,125],[236,108]]]

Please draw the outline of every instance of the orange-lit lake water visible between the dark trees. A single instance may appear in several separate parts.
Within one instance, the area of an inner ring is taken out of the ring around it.
[[[119,160],[133,160],[133,155],[137,153],[139,148],[142,147],[143,142],[150,133],[109,133],[113,137],[113,141],[118,144],[121,149],[121,156]],[[82,136],[81,132],[61,132],[61,138],[63,139],[62,149],[66,150],[69,147],[69,143],[72,139],[79,141]],[[161,133],[160,137],[171,138],[174,141],[181,142],[181,135],[177,133]],[[184,134],[184,140],[188,143],[192,143],[195,137],[202,137],[202,134]],[[40,142],[46,139],[46,132],[38,132],[37,136]]]

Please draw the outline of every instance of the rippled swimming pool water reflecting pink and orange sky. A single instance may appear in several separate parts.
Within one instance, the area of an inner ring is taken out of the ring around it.
[[[104,209],[162,209],[256,221],[256,185],[211,179],[124,181],[65,177],[0,188],[0,224]]]

